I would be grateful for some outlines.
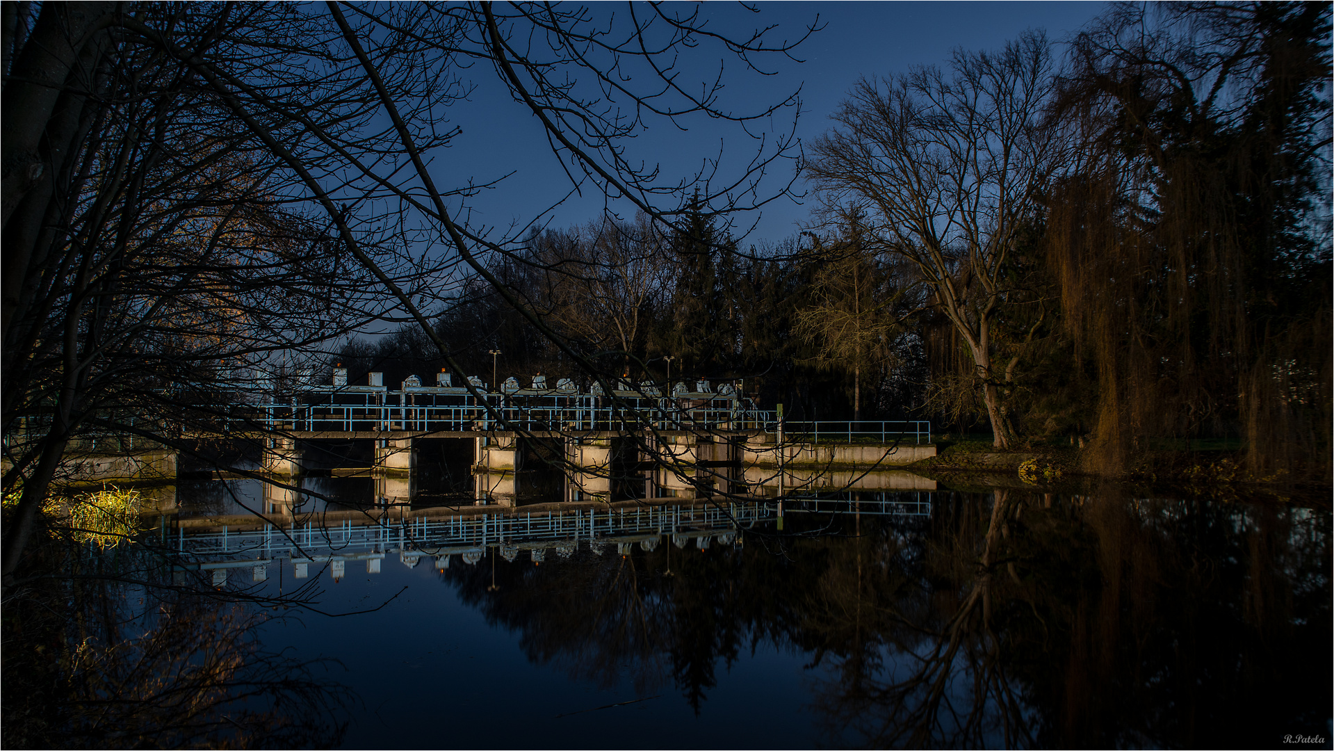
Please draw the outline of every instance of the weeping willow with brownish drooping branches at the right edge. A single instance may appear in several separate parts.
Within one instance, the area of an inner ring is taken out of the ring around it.
[[[1074,44],[1085,136],[1050,263],[1095,364],[1094,468],[1150,438],[1245,439],[1329,476],[1330,7],[1117,7]],[[1189,444],[1187,444],[1189,446]]]

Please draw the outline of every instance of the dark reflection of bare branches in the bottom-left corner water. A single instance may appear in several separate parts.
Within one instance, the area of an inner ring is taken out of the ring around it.
[[[37,556],[33,556],[37,558]],[[143,544],[56,540],[4,608],[4,746],[328,747],[347,720],[317,663],[267,652],[263,611]],[[293,600],[295,602],[295,600]]]

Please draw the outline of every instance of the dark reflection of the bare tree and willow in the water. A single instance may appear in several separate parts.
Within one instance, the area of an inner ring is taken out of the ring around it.
[[[818,680],[840,742],[1271,744],[1323,727],[1327,514],[999,491],[938,506],[935,524],[924,579],[815,598],[872,620]],[[926,598],[930,611],[912,607]]]

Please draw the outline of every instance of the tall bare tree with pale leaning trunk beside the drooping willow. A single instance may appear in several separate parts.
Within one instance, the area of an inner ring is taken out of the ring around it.
[[[1007,261],[1034,221],[1062,140],[1045,127],[1053,93],[1046,37],[1000,52],[956,52],[948,73],[918,68],[863,80],[814,148],[807,173],[826,216],[910,261],[966,343],[995,446],[1014,431],[995,336]]]

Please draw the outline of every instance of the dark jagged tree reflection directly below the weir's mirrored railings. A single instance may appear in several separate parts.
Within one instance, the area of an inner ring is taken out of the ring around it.
[[[522,631],[531,660],[602,687],[628,675],[642,694],[670,675],[698,711],[716,686],[719,660],[730,666],[747,642],[786,638],[802,618],[800,592],[818,586],[827,555],[822,544],[786,555],[723,544],[635,547],[628,556],[611,550],[548,558],[540,567],[499,559],[495,592],[490,556],[443,576],[490,623]]]

